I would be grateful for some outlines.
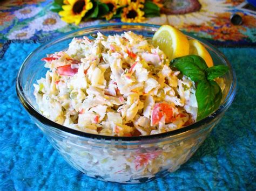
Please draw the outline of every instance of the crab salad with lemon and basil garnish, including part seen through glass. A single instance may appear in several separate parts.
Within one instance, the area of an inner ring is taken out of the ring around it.
[[[35,76],[45,77],[33,84],[37,108],[77,131],[37,125],[65,160],[87,176],[147,182],[176,171],[211,132],[220,117],[190,131],[184,126],[220,107],[228,89],[227,77],[221,76],[228,67],[214,66],[214,51],[172,26],[159,27],[153,38],[117,29],[114,36],[93,31],[74,38],[66,49],[42,59],[47,72],[38,71]],[[180,128],[183,133],[165,133]],[[76,135],[79,131],[93,138]]]

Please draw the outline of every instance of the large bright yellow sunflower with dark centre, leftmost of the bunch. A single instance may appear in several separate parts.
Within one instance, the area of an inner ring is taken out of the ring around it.
[[[65,0],[62,6],[63,11],[59,12],[62,20],[66,23],[75,23],[78,25],[85,13],[92,8],[90,0]]]

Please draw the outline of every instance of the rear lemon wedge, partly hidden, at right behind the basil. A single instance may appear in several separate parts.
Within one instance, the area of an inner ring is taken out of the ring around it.
[[[207,66],[212,67],[213,66],[212,57],[208,53],[207,49],[201,43],[199,43],[198,40],[192,39],[192,40],[188,40],[188,42],[190,43],[190,54],[201,56],[205,60]]]

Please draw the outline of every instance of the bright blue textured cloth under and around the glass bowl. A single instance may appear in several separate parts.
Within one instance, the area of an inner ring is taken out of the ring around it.
[[[196,154],[165,178],[119,185],[70,167],[19,103],[17,71],[37,46],[13,43],[0,60],[0,190],[256,189],[255,48],[220,48],[237,73],[237,96]]]

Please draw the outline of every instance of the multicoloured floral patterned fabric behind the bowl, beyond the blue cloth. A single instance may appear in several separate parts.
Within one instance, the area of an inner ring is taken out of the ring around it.
[[[67,24],[57,13],[50,11],[51,2],[49,0],[0,2],[0,58],[13,41],[42,43],[60,33],[106,22],[106,20],[92,20],[82,22],[78,26]],[[215,45],[256,45],[256,15],[253,6],[244,1],[159,0],[158,2],[164,5],[161,8],[161,16],[148,18],[144,22],[170,24],[205,38]],[[231,23],[230,18],[234,13],[241,16],[241,25]],[[111,22],[120,22],[120,20],[115,19]]]

